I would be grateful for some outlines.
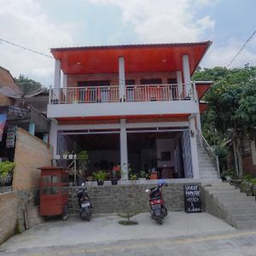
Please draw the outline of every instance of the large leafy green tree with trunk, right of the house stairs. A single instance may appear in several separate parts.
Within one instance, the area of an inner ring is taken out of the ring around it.
[[[208,109],[202,130],[210,143],[221,145],[232,140],[237,174],[241,176],[241,140],[252,135],[256,126],[256,67],[214,67],[196,72],[194,79],[213,81],[204,98]]]

